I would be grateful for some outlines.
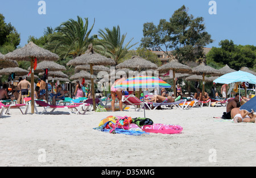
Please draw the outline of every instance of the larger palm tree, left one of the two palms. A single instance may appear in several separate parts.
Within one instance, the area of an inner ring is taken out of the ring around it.
[[[94,23],[95,19],[93,26]],[[88,45],[96,38],[95,35],[89,37],[93,26],[88,31],[88,18],[85,18],[85,23],[80,16],[77,16],[77,21],[69,19],[55,28],[56,32],[49,35],[46,48],[57,53],[60,58],[73,56],[74,59],[82,55],[88,49]]]

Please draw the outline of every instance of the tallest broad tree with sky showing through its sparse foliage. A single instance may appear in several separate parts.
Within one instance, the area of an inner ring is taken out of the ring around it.
[[[195,61],[204,56],[203,47],[213,42],[203,22],[203,17],[194,18],[183,5],[169,22],[160,19],[158,26],[152,22],[144,23],[141,46],[159,47],[167,55],[175,55],[179,61]]]

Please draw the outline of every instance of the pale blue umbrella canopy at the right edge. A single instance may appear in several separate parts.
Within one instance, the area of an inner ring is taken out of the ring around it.
[[[249,82],[250,84],[256,84],[256,76],[248,72],[237,71],[224,74],[213,82],[216,84],[231,84],[235,82]]]

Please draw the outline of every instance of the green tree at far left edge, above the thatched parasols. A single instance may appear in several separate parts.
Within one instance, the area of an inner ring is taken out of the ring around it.
[[[6,54],[14,51],[20,43],[20,34],[11,23],[5,22],[5,16],[0,14],[0,52]]]

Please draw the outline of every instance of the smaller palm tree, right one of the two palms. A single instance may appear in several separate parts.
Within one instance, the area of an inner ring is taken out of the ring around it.
[[[123,59],[123,57],[126,56],[128,50],[131,47],[138,44],[135,43],[129,45],[133,38],[128,43],[124,44],[126,34],[123,34],[122,36],[120,35],[119,26],[113,27],[112,30],[110,30],[109,28],[105,28],[105,31],[100,30],[98,31],[98,33],[98,36],[102,38],[102,44],[106,48],[105,55],[114,59],[117,64]]]

